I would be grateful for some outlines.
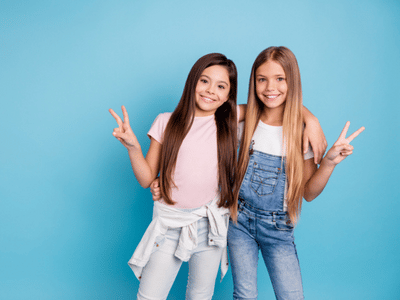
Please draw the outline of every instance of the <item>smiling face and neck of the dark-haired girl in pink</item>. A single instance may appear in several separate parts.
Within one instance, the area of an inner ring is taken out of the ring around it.
[[[225,67],[204,69],[196,85],[196,117],[213,115],[229,99],[230,81]]]

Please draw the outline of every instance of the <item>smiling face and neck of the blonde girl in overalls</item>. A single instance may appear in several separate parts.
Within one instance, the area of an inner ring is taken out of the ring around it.
[[[256,70],[256,94],[264,103],[264,111],[283,113],[287,96],[286,74],[282,66],[268,60]]]

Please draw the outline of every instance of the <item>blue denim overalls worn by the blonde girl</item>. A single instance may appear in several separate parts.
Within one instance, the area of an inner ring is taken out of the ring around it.
[[[250,150],[240,187],[238,223],[228,231],[234,299],[257,299],[257,264],[261,250],[277,299],[303,299],[293,225],[283,210],[285,161]]]

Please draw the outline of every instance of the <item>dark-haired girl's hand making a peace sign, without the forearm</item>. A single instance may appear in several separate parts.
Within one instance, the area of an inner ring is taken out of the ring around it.
[[[118,123],[118,128],[114,128],[113,136],[115,136],[129,150],[139,150],[140,144],[129,125],[128,112],[125,106],[122,105],[122,120],[111,108],[108,110]]]

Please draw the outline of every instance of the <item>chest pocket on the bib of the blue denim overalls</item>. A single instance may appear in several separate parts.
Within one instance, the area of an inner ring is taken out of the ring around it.
[[[278,184],[279,172],[280,168],[254,162],[250,178],[251,188],[259,196],[272,194]]]

